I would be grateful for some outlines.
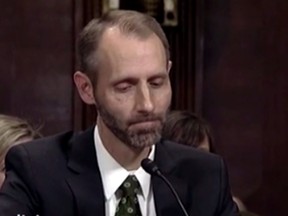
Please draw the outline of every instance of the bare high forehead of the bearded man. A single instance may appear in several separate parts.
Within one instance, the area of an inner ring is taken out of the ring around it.
[[[164,46],[155,34],[140,38],[122,34],[117,27],[105,31],[98,54],[105,74],[116,71],[118,75],[132,71],[160,72],[167,66]]]

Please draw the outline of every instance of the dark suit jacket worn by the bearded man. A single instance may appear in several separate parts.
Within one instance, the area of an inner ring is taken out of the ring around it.
[[[155,162],[190,216],[238,215],[220,157],[162,141]],[[13,147],[0,193],[1,216],[104,216],[105,200],[93,128]],[[166,184],[152,177],[157,216],[183,213]]]

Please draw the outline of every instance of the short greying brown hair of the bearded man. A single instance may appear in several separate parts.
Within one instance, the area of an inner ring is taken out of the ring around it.
[[[167,62],[170,59],[169,43],[160,24],[151,16],[129,10],[112,10],[99,19],[91,20],[83,29],[78,40],[80,70],[88,75],[92,82],[98,72],[97,53],[103,33],[109,27],[117,26],[121,33],[139,38],[147,38],[156,34],[161,40],[166,53]]]

